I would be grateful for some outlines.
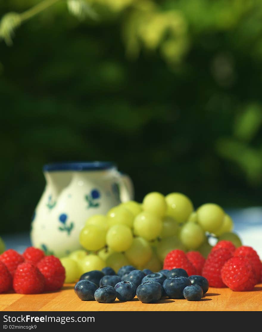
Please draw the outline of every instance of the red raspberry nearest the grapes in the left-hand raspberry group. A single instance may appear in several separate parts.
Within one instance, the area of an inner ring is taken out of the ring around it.
[[[37,267],[45,278],[45,291],[59,290],[65,281],[65,268],[59,258],[45,256],[37,263]]]

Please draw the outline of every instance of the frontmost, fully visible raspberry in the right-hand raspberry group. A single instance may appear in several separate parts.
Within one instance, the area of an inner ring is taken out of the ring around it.
[[[252,265],[247,258],[241,256],[231,257],[223,266],[221,276],[224,284],[231,290],[253,290],[256,278]]]

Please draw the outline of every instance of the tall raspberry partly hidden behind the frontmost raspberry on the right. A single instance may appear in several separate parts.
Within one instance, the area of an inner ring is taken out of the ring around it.
[[[202,270],[202,276],[208,280],[209,286],[217,288],[227,287],[222,281],[221,269],[231,257],[232,254],[227,248],[219,248],[208,254]]]

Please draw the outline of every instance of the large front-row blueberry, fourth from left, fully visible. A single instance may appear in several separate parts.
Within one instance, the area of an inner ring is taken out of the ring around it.
[[[158,302],[162,297],[161,284],[155,281],[140,284],[136,290],[136,296],[143,303]]]

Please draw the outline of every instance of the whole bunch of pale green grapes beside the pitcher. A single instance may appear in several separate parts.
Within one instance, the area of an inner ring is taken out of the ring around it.
[[[195,210],[182,193],[164,196],[151,192],[142,203],[128,201],[112,207],[106,215],[88,218],[79,236],[83,250],[61,261],[67,282],[106,266],[115,272],[124,265],[157,272],[174,249],[195,250],[207,257],[214,245],[210,239],[240,246],[241,240],[232,230],[231,217],[217,204],[203,204]]]

